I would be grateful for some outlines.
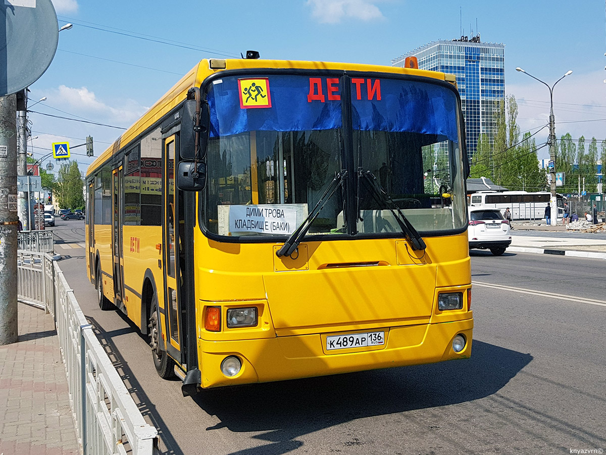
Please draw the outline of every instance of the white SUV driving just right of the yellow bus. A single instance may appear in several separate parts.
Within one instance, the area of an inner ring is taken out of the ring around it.
[[[469,248],[489,249],[495,256],[505,252],[511,244],[509,221],[493,207],[467,207]]]

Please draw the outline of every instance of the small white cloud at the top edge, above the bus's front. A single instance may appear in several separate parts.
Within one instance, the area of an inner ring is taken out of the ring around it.
[[[344,18],[373,21],[384,19],[375,5],[378,0],[307,0],[311,15],[321,24],[336,24]]]

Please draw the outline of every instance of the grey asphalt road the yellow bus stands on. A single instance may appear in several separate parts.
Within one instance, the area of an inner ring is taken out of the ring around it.
[[[474,251],[471,359],[181,396],[132,323],[101,311],[83,221],[59,262],[168,454],[544,454],[606,448],[604,261]],[[501,287],[494,287],[501,286]],[[515,289],[512,289],[515,288]],[[553,293],[558,294],[554,298]]]

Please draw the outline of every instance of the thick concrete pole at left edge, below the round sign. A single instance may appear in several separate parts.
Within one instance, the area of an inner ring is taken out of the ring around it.
[[[16,96],[0,96],[0,345],[18,335],[16,118]]]

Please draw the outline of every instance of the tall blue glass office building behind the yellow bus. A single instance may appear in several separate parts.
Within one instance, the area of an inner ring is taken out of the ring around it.
[[[392,66],[404,67],[405,58],[415,56],[419,69],[456,75],[470,160],[480,134],[485,135],[491,148],[494,144],[495,113],[499,101],[505,99],[504,51],[504,44],[481,42],[478,34],[430,42],[391,60]]]

